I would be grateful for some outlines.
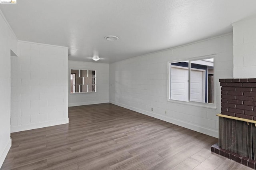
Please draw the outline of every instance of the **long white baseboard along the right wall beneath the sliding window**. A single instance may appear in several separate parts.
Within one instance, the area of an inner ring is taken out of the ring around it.
[[[165,117],[163,115],[158,115],[158,114],[155,114],[155,113],[150,113],[148,111],[137,109],[135,107],[130,107],[130,106],[127,106],[127,105],[124,105],[124,104],[121,104],[121,103],[117,103],[115,101],[110,101],[110,103],[112,103],[114,105],[118,105],[120,107],[124,107],[126,109],[130,109],[132,111],[136,111],[138,113],[142,113],[144,115],[148,115],[150,117],[154,117],[156,119],[160,119],[162,121],[166,121],[166,122],[172,123],[174,125],[178,125],[178,126],[181,126],[181,127],[184,127],[184,128],[188,128],[188,129],[194,130],[196,132],[200,132],[200,133],[203,133],[203,134],[207,134],[209,136],[213,136],[215,138],[219,138],[219,132],[215,131],[215,130],[212,130],[212,129],[208,129],[208,128],[205,128],[205,127],[199,127],[197,125],[193,125],[193,124],[188,123],[188,122],[180,121],[178,119],[174,119],[174,118],[170,118],[170,117]]]

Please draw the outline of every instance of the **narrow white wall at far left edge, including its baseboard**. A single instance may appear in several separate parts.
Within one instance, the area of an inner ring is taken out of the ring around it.
[[[17,39],[0,10],[0,167],[11,147],[11,59],[10,50],[17,54]]]

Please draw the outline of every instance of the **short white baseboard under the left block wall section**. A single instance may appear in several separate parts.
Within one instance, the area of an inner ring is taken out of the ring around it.
[[[50,122],[42,122],[42,123],[35,123],[31,125],[24,125],[24,126],[17,126],[17,127],[11,127],[11,133],[12,132],[20,132],[24,130],[31,130],[35,128],[43,128],[43,127],[50,127],[55,125],[62,125],[68,123],[68,119],[61,119],[56,121],[50,121]]]

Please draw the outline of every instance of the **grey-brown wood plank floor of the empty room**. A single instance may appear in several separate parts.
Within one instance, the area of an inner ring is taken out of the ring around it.
[[[12,133],[1,170],[250,169],[212,153],[216,138],[110,103],[70,107],[69,121]]]

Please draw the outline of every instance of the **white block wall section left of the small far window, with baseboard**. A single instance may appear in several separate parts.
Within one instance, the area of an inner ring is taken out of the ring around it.
[[[68,123],[68,48],[18,41],[11,64],[11,132]]]

